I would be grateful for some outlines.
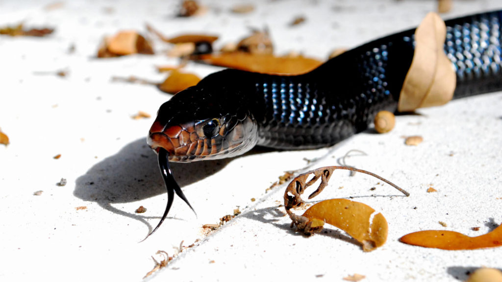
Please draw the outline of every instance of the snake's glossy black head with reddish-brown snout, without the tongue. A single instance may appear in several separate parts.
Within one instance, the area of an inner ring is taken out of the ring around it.
[[[258,142],[258,126],[245,95],[215,79],[205,82],[208,78],[159,108],[147,142],[157,153],[159,148],[167,150],[169,161],[229,158]]]

